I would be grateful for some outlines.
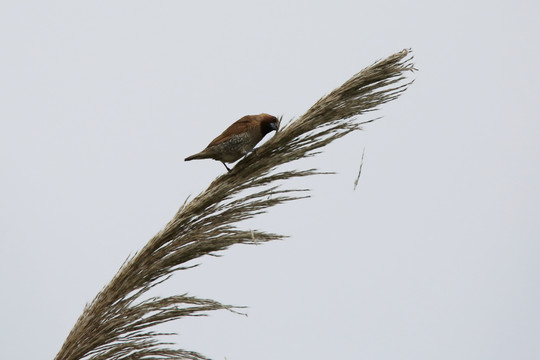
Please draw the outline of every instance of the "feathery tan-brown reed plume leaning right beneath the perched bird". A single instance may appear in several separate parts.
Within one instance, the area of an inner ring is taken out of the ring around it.
[[[235,307],[187,295],[142,300],[153,286],[187,261],[224,250],[233,244],[254,244],[282,235],[247,231],[236,223],[284,202],[307,197],[304,190],[282,189],[277,182],[318,174],[316,169],[281,170],[285,163],[313,156],[348,133],[361,130],[355,116],[399,97],[412,83],[403,83],[414,70],[410,50],[378,61],[321,98],[303,116],[282,127],[256,153],[241,160],[230,173],[184,203],[173,219],[138,253],[129,258],[88,304],[69,333],[56,360],[206,359],[172,349],[158,340],[153,326],[184,316]],[[247,191],[249,190],[249,191]]]

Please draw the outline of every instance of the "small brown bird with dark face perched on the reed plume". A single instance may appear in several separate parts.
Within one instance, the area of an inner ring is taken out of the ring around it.
[[[188,156],[185,161],[196,159],[214,159],[231,163],[240,159],[253,150],[255,145],[271,131],[278,129],[279,121],[268,114],[246,115],[229,126],[221,135],[215,138],[206,149],[195,155]],[[225,165],[227,171],[231,171]]]

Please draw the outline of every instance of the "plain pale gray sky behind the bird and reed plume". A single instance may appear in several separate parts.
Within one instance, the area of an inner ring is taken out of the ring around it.
[[[245,114],[303,114],[375,60],[416,82],[304,162],[309,200],[158,295],[215,359],[540,358],[538,1],[0,5],[0,348],[52,359],[86,302],[224,172],[186,163]],[[362,149],[366,155],[356,191]]]

